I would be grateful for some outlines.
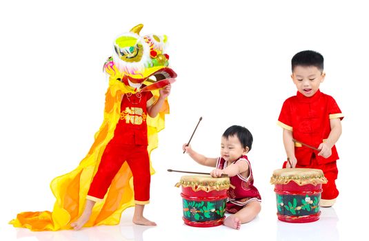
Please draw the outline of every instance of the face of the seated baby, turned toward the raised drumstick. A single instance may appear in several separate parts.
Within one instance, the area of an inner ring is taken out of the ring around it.
[[[236,135],[228,136],[228,138],[225,138],[224,136],[221,137],[221,157],[228,161],[228,163],[233,163],[235,160],[247,153],[248,147],[243,148]]]

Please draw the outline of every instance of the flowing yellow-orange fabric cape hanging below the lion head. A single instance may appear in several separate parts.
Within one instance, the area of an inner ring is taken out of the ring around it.
[[[101,156],[106,145],[114,135],[114,129],[119,121],[121,112],[121,99],[123,94],[134,89],[117,81],[115,76],[119,72],[114,67],[114,74],[110,74],[108,92],[106,92],[106,105],[104,109],[104,120],[99,131],[94,136],[94,143],[87,156],[79,163],[79,166],[70,173],[54,178],[50,188],[55,198],[54,209],[40,212],[23,212],[17,218],[10,221],[14,227],[25,227],[32,231],[57,231],[60,229],[71,229],[70,224],[77,220],[83,212],[86,196],[92,178],[99,167]],[[115,75],[115,76],[114,76]],[[153,92],[159,96],[159,91]],[[165,114],[169,113],[168,102],[163,105],[161,112],[156,118],[148,116],[148,153],[157,147],[157,133],[164,128]],[[150,172],[154,174],[150,163]],[[121,212],[134,206],[134,193],[132,184],[132,173],[127,163],[124,163],[119,173],[112,180],[105,198],[97,202],[92,209],[90,220],[84,227],[96,225],[119,224]]]

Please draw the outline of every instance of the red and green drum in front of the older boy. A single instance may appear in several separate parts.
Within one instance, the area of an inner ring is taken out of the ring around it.
[[[314,222],[320,216],[321,185],[327,183],[320,169],[289,168],[273,172],[278,219],[284,222]]]

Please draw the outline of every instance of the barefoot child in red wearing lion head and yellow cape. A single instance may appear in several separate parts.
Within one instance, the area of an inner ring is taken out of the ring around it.
[[[154,174],[150,152],[169,113],[166,97],[177,74],[168,67],[166,36],[139,36],[142,28],[137,25],[114,41],[103,67],[109,75],[103,124],[79,167],[52,180],[53,211],[19,213],[10,221],[14,227],[57,231],[114,225],[133,206],[134,223],[156,225],[143,217]]]

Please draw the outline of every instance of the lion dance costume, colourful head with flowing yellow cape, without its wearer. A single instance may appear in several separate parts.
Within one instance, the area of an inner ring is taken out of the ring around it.
[[[68,174],[54,178],[50,183],[52,193],[57,199],[54,209],[52,212],[19,213],[16,219],[10,221],[14,227],[26,227],[32,231],[71,229],[70,223],[77,220],[83,212],[88,189],[103,151],[114,136],[123,94],[150,91],[158,96],[159,89],[175,81],[177,74],[168,67],[169,56],[164,52],[167,37],[154,34],[140,36],[142,28],[143,25],[137,25],[114,40],[113,54],[103,65],[103,70],[109,76],[103,123],[94,136],[90,151],[79,166]],[[165,114],[168,113],[166,101],[157,117],[148,116],[146,119],[149,154],[157,147],[157,133],[164,128]],[[153,174],[154,170],[150,170]],[[90,220],[84,227],[119,224],[121,212],[132,206],[132,173],[127,163],[124,163],[112,180],[103,201],[94,205]]]

